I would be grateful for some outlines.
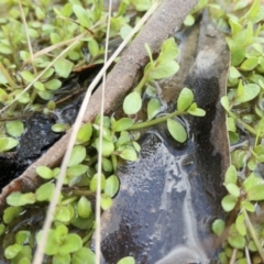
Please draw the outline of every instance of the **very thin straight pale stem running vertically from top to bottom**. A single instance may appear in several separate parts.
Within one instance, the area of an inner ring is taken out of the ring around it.
[[[108,7],[108,25],[107,25],[107,36],[106,36],[106,48],[103,63],[108,59],[108,45],[109,45],[109,34],[110,34],[110,19],[112,13],[112,0],[109,0]],[[100,131],[99,131],[99,151],[98,151],[98,180],[97,180],[97,199],[96,199],[96,264],[100,264],[101,255],[101,165],[102,165],[102,130],[103,130],[103,113],[105,113],[105,95],[106,95],[106,72],[102,76],[102,92],[101,92],[101,110],[100,110]]]

